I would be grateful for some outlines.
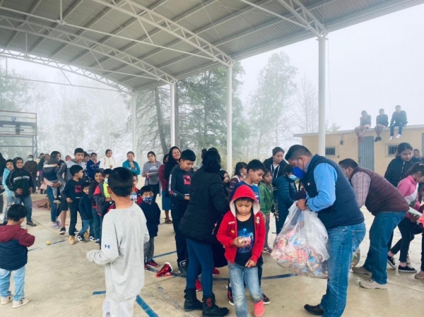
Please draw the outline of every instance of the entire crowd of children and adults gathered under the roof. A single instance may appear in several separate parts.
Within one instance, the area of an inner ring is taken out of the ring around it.
[[[305,305],[308,312],[327,317],[343,314],[352,256],[366,234],[363,206],[375,218],[366,261],[353,268],[354,273],[367,276],[360,287],[386,289],[387,263],[399,273],[424,278],[424,237],[419,272],[411,266],[408,253],[415,235],[423,233],[424,223],[423,158],[409,143],[398,146],[384,177],[352,159],[337,164],[313,155],[302,145],[293,145],[286,153],[276,147],[264,162],[237,162],[231,178],[221,168],[216,148],[202,150],[197,167],[192,150],[180,151],[175,146],[163,162],[148,152],[142,168],[134,152],[127,153],[122,167],[117,167],[112,154],[108,149],[98,160],[96,153],[76,148],[69,160],[61,160],[61,153],[53,151],[37,160],[29,155],[25,164],[20,157],[4,160],[0,155],[1,190],[7,198],[4,226],[0,227],[1,304],[13,301],[17,308],[29,301],[23,280],[27,248],[34,237],[20,224],[26,218],[28,226],[36,225],[31,200],[36,190],[47,194],[52,228],[61,235],[66,234],[69,210],[70,245],[93,241],[100,246],[87,257],[105,265],[103,309],[115,316],[132,316],[144,270],[160,266],[153,259],[161,213],[158,196],[165,224],[172,224],[175,231],[178,273],[186,278],[185,311],[228,315],[228,308],[218,306],[213,293],[213,275],[228,266],[227,296],[236,316],[248,316],[245,287],[251,294],[254,316],[262,316],[264,305],[271,303],[261,289],[264,254],[272,251],[270,222],[274,218],[280,232],[294,203],[300,210],[317,213],[329,237],[326,294],[319,304]],[[140,175],[145,184],[138,189]],[[396,226],[401,239],[391,246]],[[400,253],[399,263],[396,253]],[[13,297],[6,282],[11,273],[20,281]],[[201,301],[196,297],[200,290]]]

